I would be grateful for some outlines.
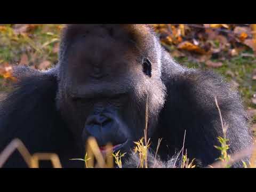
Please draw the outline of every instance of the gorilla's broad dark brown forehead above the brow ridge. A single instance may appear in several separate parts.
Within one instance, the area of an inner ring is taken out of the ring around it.
[[[68,74],[77,79],[125,76],[136,73],[142,58],[122,42],[106,37],[79,38],[67,51]],[[132,71],[131,71],[132,70]],[[80,80],[78,80],[80,81]]]

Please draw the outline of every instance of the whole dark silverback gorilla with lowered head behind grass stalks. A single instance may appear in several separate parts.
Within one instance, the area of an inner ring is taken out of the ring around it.
[[[84,167],[69,159],[84,156],[89,137],[102,149],[111,142],[114,151],[130,151],[143,137],[148,103],[151,151],[163,138],[158,155],[167,161],[186,130],[188,157],[206,166],[220,156],[214,146],[223,136],[214,97],[228,124],[229,153],[252,143],[237,91],[211,71],[178,65],[148,25],[66,25],[56,67],[20,66],[13,75],[17,86],[0,106],[0,151],[19,138],[30,153],[56,153],[63,167]],[[4,166],[26,164],[14,153]]]

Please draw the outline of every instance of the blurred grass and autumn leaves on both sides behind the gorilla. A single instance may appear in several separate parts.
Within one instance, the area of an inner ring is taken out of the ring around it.
[[[172,57],[212,69],[241,92],[256,128],[256,25],[150,24]],[[14,65],[45,70],[58,62],[59,24],[0,24],[0,98],[11,89]]]

